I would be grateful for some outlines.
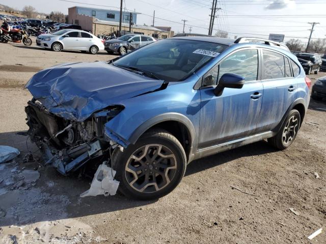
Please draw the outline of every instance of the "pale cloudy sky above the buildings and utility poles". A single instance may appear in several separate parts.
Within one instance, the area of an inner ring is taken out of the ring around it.
[[[73,3],[78,2],[78,3]],[[84,6],[118,10],[120,0],[0,0],[0,4],[22,9],[32,5],[38,12],[61,11]],[[93,6],[93,5],[101,6]],[[124,0],[126,10],[136,11],[137,24],[151,25],[155,10],[155,26],[171,26],[175,33],[185,32],[208,34],[212,0]],[[108,7],[105,7],[108,6]],[[284,34],[287,41],[300,37],[308,42],[309,22],[319,22],[314,27],[312,38],[326,38],[326,0],[219,0],[218,17],[214,20],[213,34],[227,31],[230,38],[254,36],[268,39],[268,34]]]

